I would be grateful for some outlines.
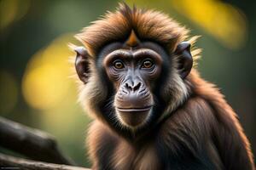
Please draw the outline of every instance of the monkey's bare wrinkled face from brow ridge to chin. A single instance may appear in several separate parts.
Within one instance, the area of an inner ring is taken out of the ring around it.
[[[150,46],[150,48],[149,48]],[[153,43],[137,48],[118,48],[103,59],[103,67],[115,88],[113,107],[126,127],[143,126],[153,114],[154,87],[163,59]]]

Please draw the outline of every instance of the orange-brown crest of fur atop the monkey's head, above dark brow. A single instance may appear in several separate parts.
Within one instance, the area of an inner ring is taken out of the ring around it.
[[[125,3],[119,3],[116,11],[108,12],[101,20],[85,27],[76,37],[84,43],[91,56],[96,56],[109,42],[127,40],[132,31],[138,39],[160,42],[170,51],[188,34],[187,29],[166,14],[150,9],[130,8]]]

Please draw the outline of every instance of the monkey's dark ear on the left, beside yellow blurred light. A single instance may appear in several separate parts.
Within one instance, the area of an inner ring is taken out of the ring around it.
[[[90,55],[87,53],[84,47],[74,48],[74,51],[77,53],[75,67],[76,71],[79,75],[79,79],[84,82],[88,82],[90,68],[89,68],[89,57]]]

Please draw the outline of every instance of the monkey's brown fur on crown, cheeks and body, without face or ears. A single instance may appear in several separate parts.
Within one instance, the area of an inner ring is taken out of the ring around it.
[[[170,56],[177,44],[188,38],[188,31],[166,14],[131,9],[125,4],[86,27],[77,37],[93,60],[100,48],[109,42],[125,41],[132,30],[140,40],[160,43]],[[189,42],[193,44],[196,38],[192,37]],[[196,59],[200,50],[194,49],[191,54]],[[97,117],[90,126],[88,138],[93,169],[161,169],[161,156],[166,150],[172,153],[166,159],[173,161],[172,165],[167,162],[166,168],[175,167],[180,161],[176,157],[181,156],[184,165],[179,168],[196,169],[196,165],[189,165],[187,156],[195,160],[209,156],[214,164],[212,169],[254,169],[250,144],[236,113],[218,88],[201,79],[195,68],[182,80],[177,72],[178,57],[172,55],[172,74],[166,77],[162,91],[163,96],[172,96],[171,101],[160,117],[159,126],[152,130],[154,133],[148,132],[150,138],[142,139],[140,144],[113,132],[102,118],[97,105],[106,99],[106,90],[97,83],[100,80],[91,61],[90,80],[86,85],[81,84],[79,100],[90,115]],[[183,153],[184,150],[188,153]],[[200,157],[201,153],[207,156]]]

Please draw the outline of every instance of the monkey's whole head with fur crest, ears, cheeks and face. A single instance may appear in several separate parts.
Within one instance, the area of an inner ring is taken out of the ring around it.
[[[193,65],[187,30],[166,14],[120,4],[84,28],[75,48],[80,102],[110,127],[156,124],[188,95]],[[125,128],[124,128],[125,127]]]

